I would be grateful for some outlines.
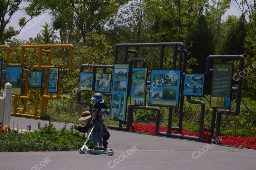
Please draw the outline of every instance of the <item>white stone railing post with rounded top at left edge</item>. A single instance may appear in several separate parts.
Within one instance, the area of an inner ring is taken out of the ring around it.
[[[0,97],[0,122],[10,126],[12,111],[12,85],[8,82],[4,85],[3,97]]]

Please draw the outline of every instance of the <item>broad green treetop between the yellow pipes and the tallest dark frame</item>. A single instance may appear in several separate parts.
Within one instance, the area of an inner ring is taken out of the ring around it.
[[[31,0],[33,1],[33,0]],[[49,10],[55,29],[61,29],[61,34],[70,36],[77,28],[86,45],[88,32],[102,31],[106,18],[127,0],[41,0],[38,4],[45,5]]]

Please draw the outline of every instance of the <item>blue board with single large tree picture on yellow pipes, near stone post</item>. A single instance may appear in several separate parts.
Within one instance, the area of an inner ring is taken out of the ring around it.
[[[12,85],[12,94],[21,95],[23,67],[5,66],[4,84]]]

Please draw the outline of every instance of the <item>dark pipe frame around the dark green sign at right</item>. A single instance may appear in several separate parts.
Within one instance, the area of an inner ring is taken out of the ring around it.
[[[210,75],[211,70],[210,70],[210,62],[212,59],[220,59],[221,62],[224,62],[224,59],[239,59],[239,72],[243,74],[243,69],[244,69],[244,56],[243,55],[209,55],[207,57],[207,62],[206,62],[206,74]],[[243,75],[239,76],[237,88],[232,88],[233,92],[237,92],[237,100],[236,100],[236,109],[235,111],[231,111],[231,114],[234,116],[239,115],[240,113],[240,105],[241,105],[241,95],[242,95],[242,82],[243,82]],[[214,110],[216,110],[214,108]],[[224,110],[219,110],[217,113],[217,120],[216,120],[216,138],[220,136],[220,125],[221,125],[221,115],[222,114],[229,114],[225,113]],[[216,116],[216,111],[215,111],[215,116]],[[212,120],[213,124],[213,120]],[[213,128],[214,130],[214,128]]]

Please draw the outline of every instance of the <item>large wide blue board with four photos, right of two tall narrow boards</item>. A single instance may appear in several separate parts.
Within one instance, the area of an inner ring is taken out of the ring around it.
[[[149,105],[179,107],[181,70],[151,70]]]

